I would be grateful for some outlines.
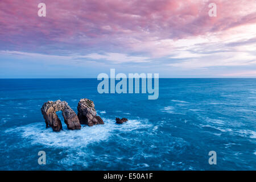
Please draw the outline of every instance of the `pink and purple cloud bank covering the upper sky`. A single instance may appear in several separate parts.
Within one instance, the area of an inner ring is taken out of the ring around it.
[[[37,15],[40,2],[46,18]],[[179,40],[256,23],[254,0],[1,0],[0,17],[1,49],[45,53],[116,51],[152,37]]]

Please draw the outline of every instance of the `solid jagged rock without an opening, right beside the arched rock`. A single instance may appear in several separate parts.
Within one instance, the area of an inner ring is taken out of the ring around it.
[[[77,106],[77,111],[77,115],[81,124],[85,124],[88,126],[98,124],[104,125],[101,117],[98,116],[96,113],[93,101],[87,98],[82,98]]]

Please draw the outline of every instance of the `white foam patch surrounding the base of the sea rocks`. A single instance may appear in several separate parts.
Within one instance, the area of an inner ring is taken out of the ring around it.
[[[85,126],[81,130],[64,130],[56,133],[51,128],[46,129],[44,122],[32,123],[30,125],[7,129],[6,133],[18,133],[23,138],[31,140],[32,144],[43,144],[49,147],[86,147],[90,143],[108,140],[116,130],[130,132],[133,130],[152,127],[147,119],[131,119],[122,125],[115,124],[113,119],[102,118],[105,125]]]

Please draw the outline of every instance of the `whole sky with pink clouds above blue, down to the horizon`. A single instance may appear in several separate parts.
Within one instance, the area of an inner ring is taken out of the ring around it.
[[[0,0],[0,78],[97,77],[110,68],[256,77],[256,0]]]

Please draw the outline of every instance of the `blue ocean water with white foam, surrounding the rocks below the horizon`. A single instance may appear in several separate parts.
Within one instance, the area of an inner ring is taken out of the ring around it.
[[[256,79],[159,80],[147,94],[99,94],[96,79],[0,80],[1,170],[255,170]],[[40,108],[94,101],[105,125],[46,129]],[[115,117],[129,121],[115,124]],[[38,152],[46,151],[46,165]],[[217,164],[209,165],[209,151]]]

